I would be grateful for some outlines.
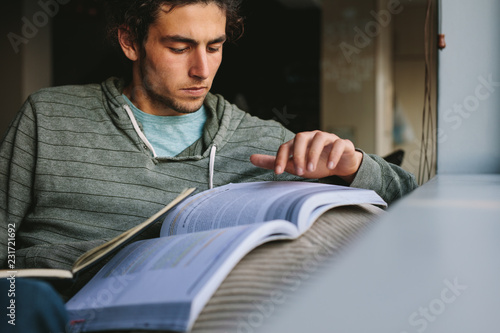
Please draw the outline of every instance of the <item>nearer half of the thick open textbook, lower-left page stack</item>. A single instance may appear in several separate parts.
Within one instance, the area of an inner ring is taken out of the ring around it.
[[[185,331],[246,253],[293,230],[276,221],[132,243],[67,303],[70,320],[83,330]]]

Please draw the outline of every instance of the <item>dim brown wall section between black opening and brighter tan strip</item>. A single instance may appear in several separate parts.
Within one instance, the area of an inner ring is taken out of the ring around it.
[[[374,1],[324,1],[321,52],[321,127],[371,153],[376,150],[375,42],[365,38],[365,27],[374,8]]]

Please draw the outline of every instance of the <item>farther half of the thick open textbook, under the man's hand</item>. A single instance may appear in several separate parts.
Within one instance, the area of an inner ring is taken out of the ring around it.
[[[315,196],[315,200],[308,198]],[[319,200],[327,196],[327,199]],[[378,201],[377,201],[378,200]],[[316,202],[315,202],[316,201]],[[323,205],[385,202],[373,191],[310,182],[229,184],[198,193],[173,209],[163,222],[161,236],[225,228],[269,220],[298,224],[299,212]],[[306,205],[306,209],[302,206]],[[301,210],[302,208],[302,210]],[[325,210],[328,207],[325,206]],[[317,217],[317,216],[316,216]]]

